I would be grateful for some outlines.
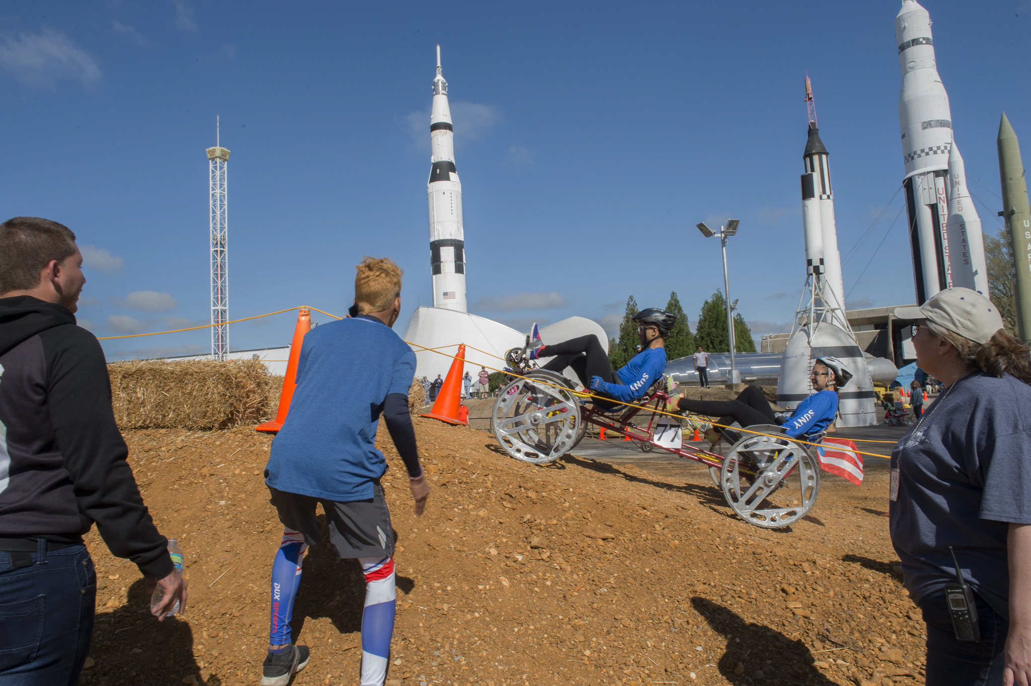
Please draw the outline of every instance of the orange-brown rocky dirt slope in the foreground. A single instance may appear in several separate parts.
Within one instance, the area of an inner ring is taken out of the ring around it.
[[[434,488],[422,518],[383,446],[398,536],[388,684],[923,683],[883,472],[862,487],[825,475],[807,518],[764,530],[693,464],[680,476],[578,457],[534,467],[485,432],[415,430]],[[92,533],[97,624],[80,683],[257,684],[281,533],[261,474],[270,437],[126,438],[159,527],[186,553],[190,606],[158,623],[135,567]],[[293,626],[311,661],[295,684],[358,683],[363,594],[356,562],[310,550]]]

